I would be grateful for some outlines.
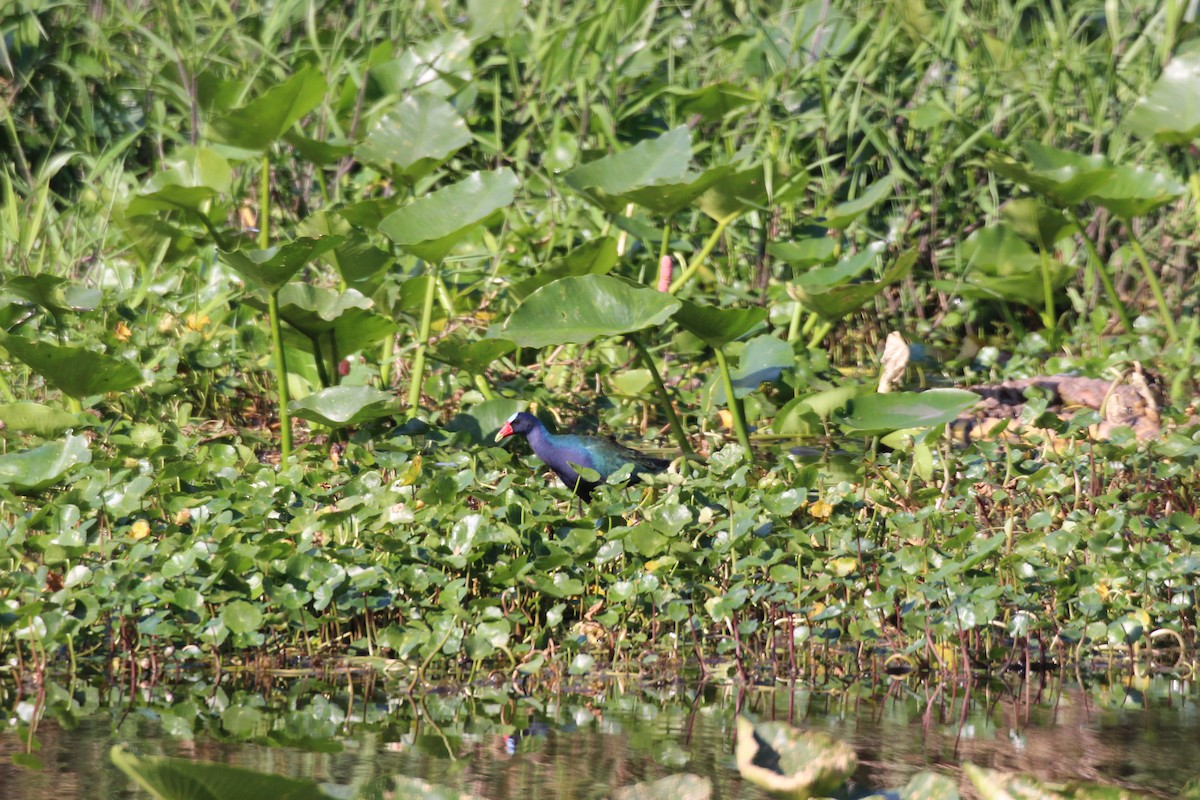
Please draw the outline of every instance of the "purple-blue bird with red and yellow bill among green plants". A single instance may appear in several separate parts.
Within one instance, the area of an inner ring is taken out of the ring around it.
[[[517,411],[510,416],[496,434],[496,440],[518,433],[529,440],[534,455],[554,470],[563,483],[574,489],[584,503],[592,500],[593,489],[625,464],[634,465],[632,477],[642,473],[661,473],[670,463],[626,447],[612,438],[551,433],[541,420],[528,411]],[[593,470],[600,480],[584,479],[576,467]]]

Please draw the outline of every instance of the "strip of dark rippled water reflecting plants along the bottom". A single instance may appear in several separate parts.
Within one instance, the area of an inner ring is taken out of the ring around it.
[[[851,796],[900,788],[922,769],[961,777],[964,762],[1162,796],[1200,775],[1200,696],[1165,678],[1090,687],[1013,680],[970,693],[910,680],[696,690],[613,679],[529,697],[474,688],[409,698],[376,676],[242,685],[196,676],[132,696],[50,685],[41,699],[11,691],[6,699],[0,798],[29,800],[144,796],[112,765],[114,744],[353,788],[346,796],[406,775],[482,798],[606,798],[686,771],[710,778],[714,798],[764,798],[733,763],[739,710],[852,744],[860,768]],[[17,765],[30,734],[20,721],[38,714],[42,769]]]

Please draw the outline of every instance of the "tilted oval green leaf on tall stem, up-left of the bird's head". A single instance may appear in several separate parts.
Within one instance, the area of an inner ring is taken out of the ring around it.
[[[379,231],[418,258],[440,261],[473,227],[510,205],[516,188],[510,169],[472,173],[388,215]]]

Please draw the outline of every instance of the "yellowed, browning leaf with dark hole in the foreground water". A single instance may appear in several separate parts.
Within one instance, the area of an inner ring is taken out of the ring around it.
[[[853,747],[823,732],[738,717],[734,753],[742,777],[785,798],[833,794],[858,768]]]

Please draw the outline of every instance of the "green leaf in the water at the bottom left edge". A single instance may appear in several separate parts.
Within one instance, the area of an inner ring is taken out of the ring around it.
[[[314,781],[257,772],[242,766],[163,756],[133,756],[114,745],[109,758],[138,786],[161,800],[288,798],[330,800]]]

